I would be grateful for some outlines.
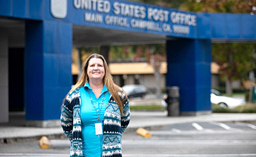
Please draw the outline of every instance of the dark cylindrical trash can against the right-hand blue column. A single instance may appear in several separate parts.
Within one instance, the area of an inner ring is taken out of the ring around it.
[[[168,87],[167,91],[168,116],[179,116],[179,87]]]

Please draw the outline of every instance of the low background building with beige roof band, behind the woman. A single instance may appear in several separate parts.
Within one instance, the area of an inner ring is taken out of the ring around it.
[[[157,83],[154,76],[154,69],[150,63],[134,62],[134,63],[109,63],[109,69],[113,76],[113,80],[121,87],[126,84],[142,84],[151,92],[155,92]],[[78,68],[72,65],[73,76],[78,75]],[[165,74],[167,73],[167,62],[161,62],[161,88],[165,89]],[[219,65],[211,63],[212,87],[218,87]]]

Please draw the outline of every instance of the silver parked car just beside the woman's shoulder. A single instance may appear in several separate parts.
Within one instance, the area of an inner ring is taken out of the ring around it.
[[[147,94],[146,88],[143,85],[139,84],[124,85],[122,88],[126,92],[128,98],[144,98]]]

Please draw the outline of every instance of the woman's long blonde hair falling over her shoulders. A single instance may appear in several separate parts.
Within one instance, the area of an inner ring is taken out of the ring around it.
[[[118,85],[113,83],[113,80],[112,80],[113,77],[110,74],[110,70],[109,70],[109,67],[106,63],[106,60],[103,58],[102,55],[99,55],[97,53],[94,53],[91,56],[89,56],[87,58],[87,60],[85,60],[85,62],[82,64],[81,77],[77,81],[77,83],[71,88],[71,90],[68,92],[68,94],[70,92],[74,91],[76,88],[84,86],[85,83],[87,83],[87,81],[88,81],[87,68],[88,68],[88,65],[89,65],[89,61],[92,58],[99,58],[103,61],[103,65],[104,65],[104,68],[105,68],[105,76],[103,78],[104,84],[106,85],[106,87],[108,87],[108,91],[110,92],[113,99],[116,101],[117,105],[119,106],[119,110],[120,110],[121,115],[123,115],[123,105],[122,105],[121,99],[120,99],[119,94],[118,94],[118,92],[122,92],[122,91],[120,91],[121,87],[119,87]],[[65,99],[67,98],[68,94],[66,95]],[[65,99],[64,99],[64,101],[65,101]],[[126,97],[123,98],[123,101],[125,101],[125,99],[126,99]],[[64,104],[64,101],[63,101],[63,104]]]

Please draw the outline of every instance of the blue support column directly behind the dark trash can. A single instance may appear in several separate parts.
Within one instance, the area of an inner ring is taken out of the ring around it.
[[[167,41],[167,87],[178,86],[181,115],[211,112],[210,40]]]

